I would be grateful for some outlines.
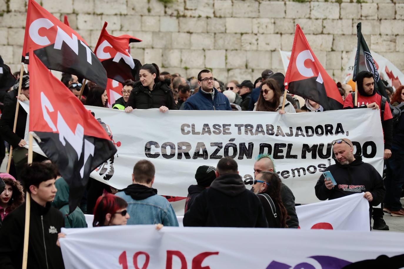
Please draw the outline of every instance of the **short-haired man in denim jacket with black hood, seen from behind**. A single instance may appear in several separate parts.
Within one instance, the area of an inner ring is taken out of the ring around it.
[[[133,167],[133,184],[115,194],[128,203],[130,219],[127,225],[161,223],[164,226],[178,226],[171,204],[163,196],[157,195],[156,189],[151,188],[155,171],[150,161],[138,161]]]

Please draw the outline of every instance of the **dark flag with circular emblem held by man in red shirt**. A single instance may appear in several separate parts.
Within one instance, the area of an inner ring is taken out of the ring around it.
[[[358,23],[356,25],[356,31],[358,35],[358,49],[356,50],[352,80],[356,81],[356,76],[359,74],[359,72],[369,71],[373,74],[373,78],[375,79],[375,90],[377,91],[377,93],[381,96],[384,96],[387,99],[387,102],[390,102],[390,98],[387,95],[384,83],[380,79],[379,71],[377,70],[377,64],[373,59],[372,54],[370,54],[368,45],[363,38],[361,28],[362,23]]]

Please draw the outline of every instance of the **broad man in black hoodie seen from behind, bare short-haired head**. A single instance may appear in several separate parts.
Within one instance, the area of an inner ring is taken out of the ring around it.
[[[184,215],[184,226],[268,227],[261,201],[247,190],[232,158],[222,158],[217,178],[198,195]]]

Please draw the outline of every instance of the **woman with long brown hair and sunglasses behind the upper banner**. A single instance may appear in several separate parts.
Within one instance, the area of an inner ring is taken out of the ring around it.
[[[292,103],[285,100],[282,110],[283,95],[275,79],[266,79],[261,85],[261,94],[253,111],[278,111],[279,114],[296,113]]]

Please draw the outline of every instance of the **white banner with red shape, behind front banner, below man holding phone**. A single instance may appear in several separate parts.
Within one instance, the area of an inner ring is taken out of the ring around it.
[[[296,206],[299,229],[332,229],[340,231],[370,231],[369,202],[363,193],[334,200]],[[93,227],[93,215],[85,215],[88,227]],[[183,227],[183,216],[177,217]]]

